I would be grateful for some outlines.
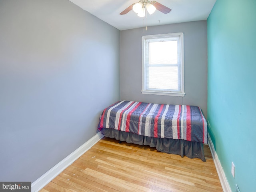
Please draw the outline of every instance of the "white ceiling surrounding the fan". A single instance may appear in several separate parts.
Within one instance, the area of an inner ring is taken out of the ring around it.
[[[168,14],[156,10],[147,18],[140,18],[131,10],[125,15],[119,13],[139,0],[70,0],[119,30],[156,26],[172,23],[206,20],[216,0],[157,0],[171,8]]]

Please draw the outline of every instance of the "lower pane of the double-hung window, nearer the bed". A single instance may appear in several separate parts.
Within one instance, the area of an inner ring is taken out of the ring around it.
[[[178,66],[148,66],[148,88],[180,90]]]

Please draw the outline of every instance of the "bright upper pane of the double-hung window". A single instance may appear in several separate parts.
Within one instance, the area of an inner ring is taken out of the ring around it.
[[[178,41],[150,42],[150,64],[177,64]]]

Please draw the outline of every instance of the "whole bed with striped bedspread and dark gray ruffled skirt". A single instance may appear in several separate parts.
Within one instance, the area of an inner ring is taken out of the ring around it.
[[[207,123],[197,106],[118,101],[103,110],[98,130],[109,138],[206,161]]]

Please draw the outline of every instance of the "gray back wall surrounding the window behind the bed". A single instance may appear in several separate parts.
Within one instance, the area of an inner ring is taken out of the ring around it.
[[[142,94],[141,37],[184,32],[184,97]],[[186,22],[120,32],[120,99],[200,106],[207,118],[207,23]]]

